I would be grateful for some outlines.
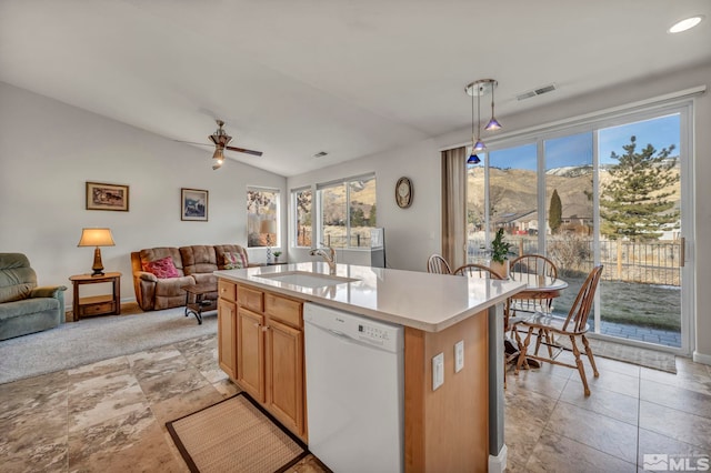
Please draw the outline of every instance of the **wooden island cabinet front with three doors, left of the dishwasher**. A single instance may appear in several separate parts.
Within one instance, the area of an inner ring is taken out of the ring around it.
[[[303,302],[224,280],[219,282],[219,293],[220,368],[287,429],[308,441]]]

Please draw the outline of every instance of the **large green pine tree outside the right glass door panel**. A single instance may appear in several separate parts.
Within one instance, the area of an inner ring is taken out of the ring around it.
[[[622,147],[624,154],[610,155],[618,163],[610,168],[612,180],[602,190],[600,217],[602,234],[611,240],[655,240],[664,230],[679,228],[680,212],[674,209],[672,187],[679,182],[674,145],[659,153],[651,144],[637,152],[637,138]]]

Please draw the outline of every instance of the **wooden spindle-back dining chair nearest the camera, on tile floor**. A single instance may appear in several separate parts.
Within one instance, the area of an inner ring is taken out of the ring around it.
[[[598,372],[595,359],[592,354],[592,350],[590,349],[590,344],[588,343],[585,333],[588,333],[589,330],[588,315],[590,315],[592,301],[594,300],[595,290],[598,289],[598,282],[600,281],[601,274],[602,264],[594,266],[590,274],[588,274],[585,282],[580,288],[580,292],[578,292],[575,302],[573,302],[573,305],[570,308],[568,316],[562,318],[550,313],[537,312],[530,318],[515,323],[515,330],[513,330],[513,333],[515,334],[515,340],[520,349],[514,371],[515,374],[519,374],[519,370],[522,366],[529,368],[529,359],[577,369],[580,374],[580,380],[582,381],[585,395],[590,395],[590,388],[588,386],[588,379],[585,378],[585,369],[582,360],[580,359],[581,352],[575,340],[580,339],[582,342],[582,349],[584,350],[583,354],[585,354],[588,360],[590,360],[592,372],[594,376],[598,378],[600,373]],[[523,342],[521,342],[521,333],[527,334]],[[528,348],[531,343],[531,336],[533,335],[535,335],[535,351],[531,354],[528,352]],[[570,346],[562,344],[560,341],[555,340],[557,338],[568,338],[570,340]],[[560,353],[561,350],[572,351],[575,356],[575,364],[565,363],[563,361],[559,361],[554,356],[550,356],[550,346],[548,358],[539,355],[541,344],[553,344],[553,346],[559,350],[558,353]]]

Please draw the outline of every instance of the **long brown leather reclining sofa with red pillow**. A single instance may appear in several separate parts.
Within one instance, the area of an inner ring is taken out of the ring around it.
[[[186,304],[184,285],[211,283],[214,292],[206,300],[217,300],[213,271],[257,266],[249,262],[239,244],[160,246],[131,253],[136,301],[143,311],[179,308]]]

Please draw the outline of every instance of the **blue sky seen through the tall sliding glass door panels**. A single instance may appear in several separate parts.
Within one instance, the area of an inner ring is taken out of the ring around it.
[[[610,154],[612,151],[618,154],[624,153],[622,145],[628,144],[632,135],[637,137],[638,150],[647,147],[648,143],[651,143],[657,151],[673,144],[677,151],[672,154],[675,154],[679,151],[679,114],[601,129],[598,139],[600,162],[615,163],[615,160],[610,159]],[[537,169],[535,143],[492,151],[490,154],[491,165],[494,167]],[[590,163],[592,163],[592,132],[545,140],[547,169]]]

